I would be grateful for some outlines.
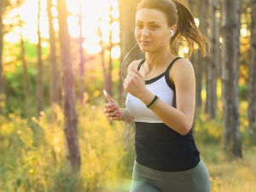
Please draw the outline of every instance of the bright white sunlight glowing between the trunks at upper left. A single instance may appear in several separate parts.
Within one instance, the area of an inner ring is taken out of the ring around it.
[[[46,11],[47,0],[40,0],[40,32],[44,39],[49,38],[49,23]],[[82,36],[84,38],[83,47],[88,54],[97,54],[102,48],[100,42],[109,43],[109,33],[112,32],[113,44],[119,43],[119,9],[117,0],[66,0],[68,31],[72,38],[79,38],[79,6],[81,6],[82,14]],[[56,0],[52,1],[54,7],[51,9],[54,17],[53,23],[55,31],[59,30],[57,21],[57,10],[55,8]],[[99,6],[101,5],[101,6]],[[29,15],[27,13],[30,13]],[[22,27],[18,27],[4,35],[6,42],[15,44],[20,41],[20,35],[33,44],[38,43],[38,1],[25,0],[19,9],[13,9],[6,15],[3,20],[4,24],[14,24],[18,26],[19,20],[17,15],[20,15],[20,20],[24,21]],[[113,23],[110,25],[110,15],[113,18]],[[100,37],[99,30],[102,33]],[[102,40],[101,40],[102,38]],[[45,41],[45,40],[44,40]],[[46,44],[44,44],[46,46]],[[112,51],[113,59],[119,57],[119,46],[114,47]]]

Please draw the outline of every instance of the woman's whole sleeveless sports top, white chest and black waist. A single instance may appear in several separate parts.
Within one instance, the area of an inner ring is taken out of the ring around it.
[[[169,79],[169,71],[178,59],[180,57],[170,63],[165,73],[145,80],[149,91],[174,108],[176,92],[175,85]],[[139,63],[138,71],[144,61],[145,59]],[[126,96],[125,105],[133,115],[136,125],[134,145],[138,163],[162,172],[185,171],[199,163],[200,153],[196,148],[192,129],[185,136],[179,134],[130,93]]]

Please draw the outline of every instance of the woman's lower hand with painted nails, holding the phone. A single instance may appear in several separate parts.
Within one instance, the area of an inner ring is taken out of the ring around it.
[[[108,94],[108,93],[107,93]],[[110,102],[104,104],[103,113],[109,120],[119,120],[121,118],[121,112],[119,110],[119,105],[113,100],[111,96],[105,96],[106,99],[109,98]]]

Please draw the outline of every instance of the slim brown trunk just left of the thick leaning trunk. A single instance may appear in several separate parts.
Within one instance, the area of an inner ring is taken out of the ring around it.
[[[50,65],[50,103],[51,107],[59,103],[59,72],[56,61],[55,30],[51,13],[52,0],[47,0],[47,14],[49,22],[49,65]]]

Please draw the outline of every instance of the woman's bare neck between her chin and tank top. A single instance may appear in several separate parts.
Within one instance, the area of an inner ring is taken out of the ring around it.
[[[154,52],[146,52],[145,53],[145,64],[148,68],[154,69],[155,67],[160,67],[161,65],[165,65],[167,60],[172,58],[171,53],[169,52],[167,47],[158,49]]]

